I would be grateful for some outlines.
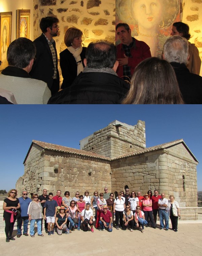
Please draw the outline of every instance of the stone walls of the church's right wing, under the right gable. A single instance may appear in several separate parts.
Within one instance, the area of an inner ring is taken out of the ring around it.
[[[181,207],[197,206],[196,162],[184,158],[186,149],[179,144],[169,150],[145,153],[111,163],[112,191],[128,185],[130,191],[157,189],[159,194],[174,195]],[[181,155],[172,154],[181,152]]]

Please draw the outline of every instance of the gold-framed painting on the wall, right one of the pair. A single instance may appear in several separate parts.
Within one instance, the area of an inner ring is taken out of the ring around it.
[[[16,38],[30,38],[30,10],[16,10]]]

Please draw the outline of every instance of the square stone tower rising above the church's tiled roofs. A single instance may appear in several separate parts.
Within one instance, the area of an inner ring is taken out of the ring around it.
[[[107,127],[80,141],[80,149],[114,158],[146,146],[145,122],[128,125],[115,120]]]

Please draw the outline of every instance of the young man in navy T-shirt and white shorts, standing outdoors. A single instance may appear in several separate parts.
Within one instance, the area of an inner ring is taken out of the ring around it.
[[[48,194],[48,200],[44,204],[43,216],[48,224],[48,235],[54,235],[54,226],[57,214],[57,202],[53,200],[53,193]],[[47,217],[46,217],[47,216]],[[51,224],[51,227],[50,227]]]

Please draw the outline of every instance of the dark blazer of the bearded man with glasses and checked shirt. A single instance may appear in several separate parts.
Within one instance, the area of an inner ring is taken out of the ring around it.
[[[53,42],[53,46],[56,51],[56,63],[57,63],[57,81],[53,86],[53,77],[54,77],[54,63],[53,56],[50,51],[50,47],[48,42],[43,35],[43,33],[34,40],[34,44],[36,46],[36,60],[32,66],[32,70],[30,71],[30,76],[42,80],[47,83],[48,88],[53,95],[59,90],[60,87],[60,76],[58,72],[58,56],[56,50],[56,42]]]

